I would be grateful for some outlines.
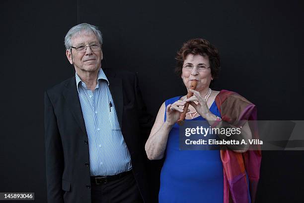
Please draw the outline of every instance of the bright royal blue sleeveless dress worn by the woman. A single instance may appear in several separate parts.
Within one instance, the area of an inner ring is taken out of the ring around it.
[[[165,106],[180,98],[165,101]],[[215,102],[210,111],[221,116]],[[192,120],[205,119],[199,116]],[[223,203],[224,177],[219,150],[179,150],[179,126],[175,123],[164,156],[159,203]]]

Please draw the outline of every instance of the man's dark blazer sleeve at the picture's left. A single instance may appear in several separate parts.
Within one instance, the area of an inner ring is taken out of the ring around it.
[[[45,92],[44,102],[47,200],[48,203],[64,203],[62,190],[63,147],[54,107],[47,92]]]

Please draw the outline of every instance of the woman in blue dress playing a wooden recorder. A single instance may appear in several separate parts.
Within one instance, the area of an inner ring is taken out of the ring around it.
[[[209,88],[220,70],[218,50],[209,41],[187,41],[178,51],[176,59],[176,72],[193,97],[187,99],[181,96],[163,102],[146,143],[150,160],[164,157],[159,203],[229,203],[229,199],[234,203],[254,202],[260,151],[181,151],[179,126],[176,124],[186,102],[190,102],[186,119],[207,120],[210,125],[222,119],[231,125],[240,120],[255,120],[254,104],[236,93]],[[197,87],[190,90],[194,80]],[[231,123],[231,120],[235,122]],[[249,127],[248,123],[242,127],[250,132],[251,137],[257,136],[255,128]]]

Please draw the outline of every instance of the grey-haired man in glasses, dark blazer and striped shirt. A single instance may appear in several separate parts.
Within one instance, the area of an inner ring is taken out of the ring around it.
[[[75,77],[45,93],[49,203],[149,202],[146,112],[135,74],[101,69],[102,36],[82,23],[65,37]]]

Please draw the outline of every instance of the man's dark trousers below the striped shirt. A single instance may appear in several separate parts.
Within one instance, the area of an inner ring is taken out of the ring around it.
[[[143,203],[133,173],[102,185],[91,181],[92,203]]]

